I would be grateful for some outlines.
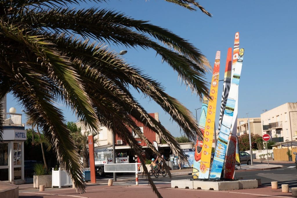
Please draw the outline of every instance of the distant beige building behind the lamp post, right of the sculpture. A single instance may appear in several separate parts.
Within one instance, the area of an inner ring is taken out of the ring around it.
[[[249,124],[248,124],[249,119]],[[261,118],[238,118],[237,119],[237,136],[249,134],[249,127],[251,134],[258,134],[262,136]]]

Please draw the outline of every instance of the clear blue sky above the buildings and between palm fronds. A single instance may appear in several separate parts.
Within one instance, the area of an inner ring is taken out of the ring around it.
[[[279,3],[281,2],[281,3]],[[173,31],[189,40],[214,64],[215,53],[221,51],[220,78],[224,77],[228,47],[233,47],[234,35],[240,33],[240,46],[245,48],[244,61],[239,84],[238,118],[260,117],[263,110],[272,109],[286,102],[297,102],[296,92],[296,49],[297,1],[206,1],[199,3],[212,13],[210,18],[200,10],[191,12],[162,0],[112,0],[107,3],[93,2],[70,7],[100,7],[124,12],[128,16],[149,20],[150,23]],[[110,46],[115,51],[128,50],[125,60],[143,69],[154,79],[162,82],[166,92],[183,103],[195,117],[195,109],[201,107],[196,95],[178,80],[178,75],[153,50]],[[206,75],[210,81],[211,72]],[[170,116],[148,98],[132,91],[135,98],[149,112],[158,112],[161,123],[174,135],[180,136],[180,129]],[[218,99],[222,94],[219,84]],[[7,98],[7,109],[22,107],[11,95]],[[76,118],[63,105],[67,121]],[[217,104],[216,123],[219,118],[220,102]],[[198,119],[200,110],[197,111]],[[23,118],[23,121],[25,119]]]

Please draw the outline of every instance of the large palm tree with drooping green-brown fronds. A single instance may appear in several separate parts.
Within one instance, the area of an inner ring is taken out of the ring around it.
[[[142,163],[141,147],[131,129],[157,151],[132,117],[159,134],[186,161],[178,142],[141,107],[128,86],[157,102],[187,137],[195,139],[201,132],[192,113],[166,94],[159,82],[127,64],[104,43],[155,50],[200,100],[202,95],[208,96],[206,57],[187,40],[148,21],[106,9],[68,7],[81,1],[0,1],[0,99],[10,92],[23,105],[28,123],[42,128],[60,166],[80,190],[85,188],[82,165],[57,102],[66,104],[90,128],[97,130],[100,123],[116,133],[133,147]],[[199,8],[210,16],[195,0],[166,1],[189,10]],[[149,183],[161,197],[150,177]]]

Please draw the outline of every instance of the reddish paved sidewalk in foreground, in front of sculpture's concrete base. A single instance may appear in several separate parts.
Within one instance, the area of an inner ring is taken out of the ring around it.
[[[156,185],[159,192],[164,198],[167,197],[290,197],[292,193],[282,193],[281,189],[273,190],[271,187],[258,187],[257,189],[243,189],[233,191],[204,191],[193,189],[172,189],[170,184]],[[97,197],[157,197],[148,185],[140,186],[106,186],[106,185],[88,185],[85,193],[76,193],[72,188],[61,188],[54,190],[46,190],[43,192],[20,192],[20,198],[53,198],[53,197],[78,197],[78,198],[97,198]]]

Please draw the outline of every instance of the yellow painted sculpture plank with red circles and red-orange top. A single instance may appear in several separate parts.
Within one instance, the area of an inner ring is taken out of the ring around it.
[[[214,136],[214,121],[216,118],[216,106],[219,86],[220,56],[221,52],[217,51],[214,61],[214,71],[212,74],[209,94],[211,100],[208,101],[208,108],[206,112],[206,124],[203,137],[203,148],[201,152],[200,172],[198,177],[200,179],[208,179],[209,175],[212,140]]]

